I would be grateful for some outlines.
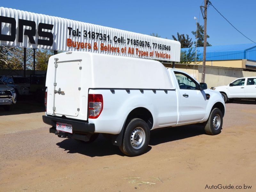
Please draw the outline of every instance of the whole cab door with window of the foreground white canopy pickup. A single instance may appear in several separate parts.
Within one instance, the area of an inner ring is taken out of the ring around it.
[[[180,92],[180,122],[202,120],[206,111],[206,94],[200,91],[199,84],[190,76],[180,71],[174,71],[176,84]]]

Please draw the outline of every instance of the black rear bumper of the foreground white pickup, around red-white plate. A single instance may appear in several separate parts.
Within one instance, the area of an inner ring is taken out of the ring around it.
[[[94,124],[83,122],[83,121],[76,121],[76,120],[63,119],[60,117],[44,115],[43,122],[55,128],[56,128],[56,122],[71,124],[73,133],[86,134],[86,133],[95,132]]]

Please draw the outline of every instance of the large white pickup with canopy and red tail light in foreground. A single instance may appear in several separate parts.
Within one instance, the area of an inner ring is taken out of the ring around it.
[[[225,114],[220,92],[155,60],[60,53],[49,59],[46,87],[51,133],[84,143],[106,134],[128,156],[145,153],[153,129],[201,123],[219,134]]]

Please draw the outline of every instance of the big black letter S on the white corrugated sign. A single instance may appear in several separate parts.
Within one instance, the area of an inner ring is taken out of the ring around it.
[[[48,37],[49,40],[38,39],[37,44],[52,46],[52,44],[53,44],[53,35],[52,35],[52,33],[43,31],[43,29],[52,30],[52,28],[53,28],[53,25],[51,25],[51,24],[39,23],[39,25],[38,25],[38,35],[40,37]]]

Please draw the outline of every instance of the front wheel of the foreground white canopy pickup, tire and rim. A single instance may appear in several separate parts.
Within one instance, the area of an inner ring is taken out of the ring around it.
[[[208,121],[204,127],[204,131],[208,135],[217,135],[222,129],[222,113],[220,109],[214,108],[208,118]]]

